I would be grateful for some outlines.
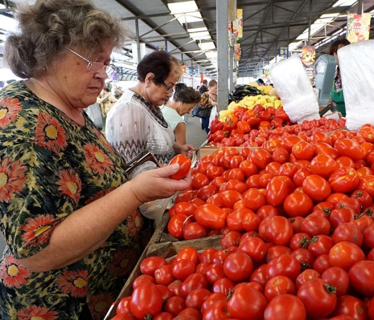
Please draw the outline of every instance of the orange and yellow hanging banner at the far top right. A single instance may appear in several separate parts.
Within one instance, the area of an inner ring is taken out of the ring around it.
[[[369,40],[371,13],[356,15],[349,13],[347,17],[347,39],[350,43]]]

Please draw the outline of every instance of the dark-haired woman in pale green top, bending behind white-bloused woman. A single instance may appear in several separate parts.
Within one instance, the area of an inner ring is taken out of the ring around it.
[[[174,131],[175,141],[179,145],[186,144],[186,123],[182,116],[189,114],[200,101],[200,93],[185,84],[175,90],[173,101],[161,109],[162,115]]]

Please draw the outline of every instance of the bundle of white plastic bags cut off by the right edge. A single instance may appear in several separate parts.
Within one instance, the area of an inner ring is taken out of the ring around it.
[[[374,40],[353,43],[338,50],[349,130],[358,130],[365,123],[374,124],[373,52]]]

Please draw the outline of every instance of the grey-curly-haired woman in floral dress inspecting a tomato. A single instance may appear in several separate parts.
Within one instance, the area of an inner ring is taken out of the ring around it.
[[[83,112],[124,38],[119,23],[88,0],[37,0],[17,17],[5,59],[27,80],[0,92],[0,319],[103,319],[142,250],[137,208],[190,177],[169,179],[177,165],[126,182]]]

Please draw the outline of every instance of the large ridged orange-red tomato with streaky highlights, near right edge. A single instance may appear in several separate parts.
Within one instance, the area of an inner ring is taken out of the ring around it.
[[[359,176],[355,169],[349,167],[341,167],[335,170],[328,182],[332,191],[340,193],[348,193],[356,188],[359,182]]]

